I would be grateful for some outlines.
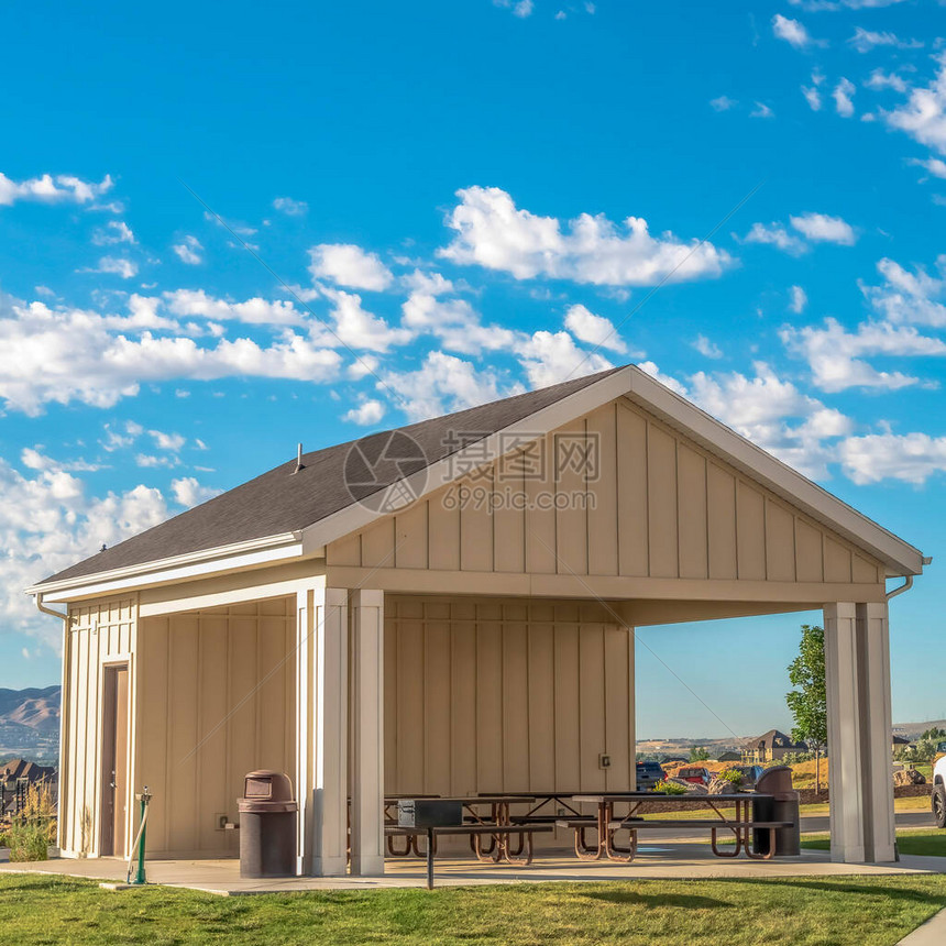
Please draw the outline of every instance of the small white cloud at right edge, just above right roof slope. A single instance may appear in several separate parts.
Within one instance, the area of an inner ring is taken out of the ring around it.
[[[927,433],[870,433],[840,443],[842,469],[855,483],[902,480],[922,484],[946,472],[946,437]]]

